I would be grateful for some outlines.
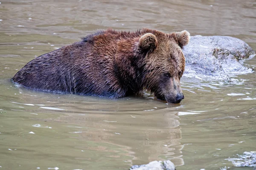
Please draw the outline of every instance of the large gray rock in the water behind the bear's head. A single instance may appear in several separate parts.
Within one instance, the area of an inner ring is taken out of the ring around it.
[[[243,65],[244,59],[255,56],[255,51],[244,41],[226,36],[192,36],[184,47],[186,68],[184,76],[198,79],[230,80],[236,74],[252,73]]]

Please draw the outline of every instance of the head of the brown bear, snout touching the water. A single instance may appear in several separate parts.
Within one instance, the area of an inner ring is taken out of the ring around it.
[[[140,37],[138,48],[145,53],[143,84],[157,99],[169,103],[184,99],[180,87],[185,69],[182,49],[189,39],[190,34],[185,30],[171,34],[152,32]]]

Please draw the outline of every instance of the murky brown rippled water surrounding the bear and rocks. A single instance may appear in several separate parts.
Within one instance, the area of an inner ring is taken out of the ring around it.
[[[177,170],[233,167],[256,151],[256,74],[232,83],[182,78],[185,99],[41,93],[10,79],[27,62],[96,29],[154,28],[238,37],[256,50],[255,0],[0,0],[0,169]],[[256,67],[256,58],[245,62]],[[252,168],[241,168],[252,169]]]

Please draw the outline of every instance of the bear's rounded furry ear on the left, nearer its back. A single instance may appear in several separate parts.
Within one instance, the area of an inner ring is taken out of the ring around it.
[[[157,47],[157,37],[154,34],[146,33],[140,37],[140,48],[153,51]]]

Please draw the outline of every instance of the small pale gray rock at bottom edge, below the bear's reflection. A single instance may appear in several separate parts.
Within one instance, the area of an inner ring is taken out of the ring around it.
[[[130,170],[175,170],[172,161],[152,161],[148,164],[134,165]]]

